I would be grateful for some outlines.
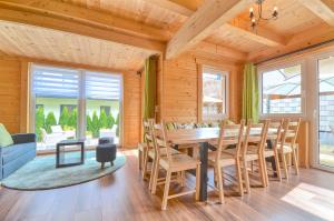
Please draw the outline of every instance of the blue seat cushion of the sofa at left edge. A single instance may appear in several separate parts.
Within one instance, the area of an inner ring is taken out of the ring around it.
[[[4,165],[30,151],[36,151],[36,143],[20,143],[2,148],[2,164]]]

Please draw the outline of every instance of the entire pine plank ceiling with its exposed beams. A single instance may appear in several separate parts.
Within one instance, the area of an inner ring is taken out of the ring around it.
[[[157,52],[261,61],[334,38],[333,0],[266,0],[264,14],[277,6],[279,17],[256,31],[252,2],[256,9],[254,0],[0,0],[0,50],[136,70]]]

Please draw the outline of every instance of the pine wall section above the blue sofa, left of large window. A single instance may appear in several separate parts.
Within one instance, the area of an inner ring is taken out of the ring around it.
[[[10,133],[20,132],[21,62],[0,58],[0,122]]]

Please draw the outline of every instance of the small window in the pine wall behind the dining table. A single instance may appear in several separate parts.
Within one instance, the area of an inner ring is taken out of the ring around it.
[[[227,72],[205,67],[202,80],[203,120],[220,120],[227,110]]]

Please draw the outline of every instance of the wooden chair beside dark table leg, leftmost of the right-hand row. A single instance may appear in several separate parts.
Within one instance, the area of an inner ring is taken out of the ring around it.
[[[244,133],[245,120],[240,121],[240,124],[225,124],[222,123],[219,139],[216,151],[209,152],[208,163],[214,167],[215,182],[218,183],[219,201],[224,203],[224,182],[223,182],[223,168],[235,165],[237,174],[237,183],[239,189],[239,194],[244,194],[243,188],[243,173],[242,173],[242,142]],[[224,149],[228,145],[235,145],[235,149],[229,152],[224,152]]]

